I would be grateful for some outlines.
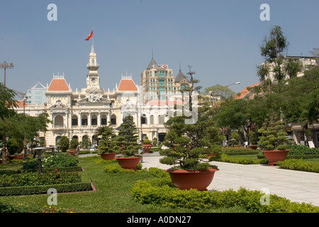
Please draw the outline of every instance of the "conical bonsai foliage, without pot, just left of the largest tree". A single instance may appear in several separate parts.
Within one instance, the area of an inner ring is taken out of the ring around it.
[[[133,121],[133,116],[125,116],[123,123],[117,128],[118,135],[113,138],[114,147],[118,149],[118,153],[122,157],[135,157],[138,155],[138,150],[141,148],[138,145],[138,130]]]

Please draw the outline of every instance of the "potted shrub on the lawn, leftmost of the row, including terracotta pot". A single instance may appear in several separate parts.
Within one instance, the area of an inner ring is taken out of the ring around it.
[[[114,144],[114,138],[116,134],[113,132],[111,123],[108,126],[101,126],[96,129],[95,135],[101,135],[101,140],[99,140],[99,155],[103,160],[112,160],[116,157],[116,147]]]

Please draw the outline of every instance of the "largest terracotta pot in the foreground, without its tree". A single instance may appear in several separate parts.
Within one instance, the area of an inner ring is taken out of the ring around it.
[[[198,189],[198,191],[206,191],[207,187],[213,181],[213,177],[217,169],[208,170],[166,170],[172,182],[179,189]]]

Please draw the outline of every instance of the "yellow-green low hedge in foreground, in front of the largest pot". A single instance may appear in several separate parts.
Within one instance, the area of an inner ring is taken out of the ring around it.
[[[164,170],[162,170],[164,171]],[[306,203],[291,202],[273,194],[269,195],[269,205],[262,205],[264,194],[259,191],[250,191],[240,188],[223,192],[198,191],[196,189],[180,190],[170,187],[169,184],[158,185],[155,182],[164,182],[165,175],[152,182],[139,180],[130,192],[135,201],[141,204],[169,206],[172,208],[187,209],[215,209],[219,207],[242,206],[253,213],[318,213],[319,206]]]

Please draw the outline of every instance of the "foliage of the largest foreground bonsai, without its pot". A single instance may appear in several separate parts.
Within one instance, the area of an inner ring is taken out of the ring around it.
[[[177,165],[171,170],[206,170],[217,169],[206,160],[210,153],[218,153],[214,145],[223,141],[222,136],[211,118],[212,109],[203,104],[198,107],[196,123],[185,124],[186,116],[173,116],[165,123],[169,132],[165,135],[163,144],[169,147],[160,150],[164,155],[159,160],[162,164]]]

